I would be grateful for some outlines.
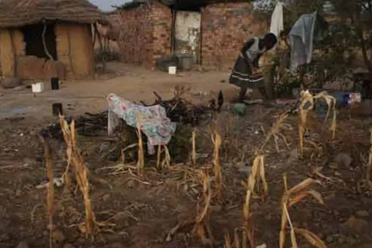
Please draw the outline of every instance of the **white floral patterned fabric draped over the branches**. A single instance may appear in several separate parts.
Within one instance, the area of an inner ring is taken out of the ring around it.
[[[113,93],[107,96],[107,101],[109,102],[109,134],[118,124],[115,118],[123,119],[126,124],[134,128],[138,123],[141,131],[147,136],[149,154],[155,153],[155,145],[168,144],[176,131],[176,123],[171,122],[165,109],[160,105],[149,107],[136,105]]]

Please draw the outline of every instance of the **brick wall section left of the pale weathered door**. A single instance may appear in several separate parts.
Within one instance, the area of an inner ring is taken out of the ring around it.
[[[156,57],[171,53],[172,12],[158,2],[149,2],[114,11],[119,28],[122,61],[155,66]]]

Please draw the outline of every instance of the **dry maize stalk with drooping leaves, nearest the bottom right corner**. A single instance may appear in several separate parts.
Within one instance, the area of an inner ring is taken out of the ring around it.
[[[313,184],[320,184],[319,181],[314,179],[307,179],[301,182],[300,184],[294,186],[291,189],[288,189],[287,184],[287,177],[286,175],[283,176],[284,181],[284,194],[281,200],[281,207],[282,207],[282,221],[281,221],[281,229],[279,233],[279,247],[284,248],[285,240],[286,240],[286,226],[289,223],[291,231],[291,243],[293,248],[298,248],[297,240],[296,240],[296,233],[301,234],[304,238],[314,247],[317,248],[327,248],[324,242],[319,239],[314,233],[301,228],[295,228],[292,224],[292,221],[289,216],[288,209],[293,206],[294,204],[301,201],[303,198],[307,196],[313,196],[319,203],[323,204],[323,200],[321,194],[318,191],[311,189],[310,187]]]

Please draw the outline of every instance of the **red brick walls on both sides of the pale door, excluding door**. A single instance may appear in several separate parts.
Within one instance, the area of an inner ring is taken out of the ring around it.
[[[254,23],[248,2],[206,4],[200,9],[200,61],[218,69],[232,67],[244,42],[266,28]],[[172,52],[172,7],[158,1],[133,2],[111,13],[120,29],[123,62],[154,66],[156,58]]]

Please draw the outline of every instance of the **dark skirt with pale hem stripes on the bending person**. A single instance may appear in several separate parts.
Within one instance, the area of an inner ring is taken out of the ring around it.
[[[229,83],[251,89],[265,87],[262,75],[252,75],[252,69],[242,56],[239,56],[235,62],[230,74]]]

